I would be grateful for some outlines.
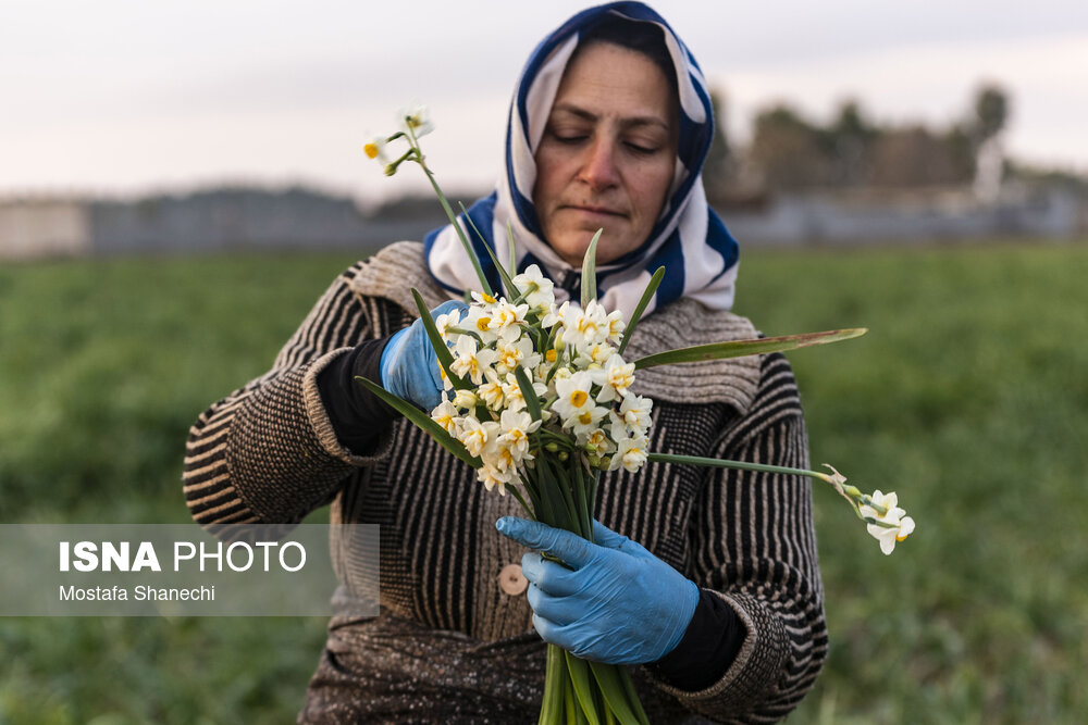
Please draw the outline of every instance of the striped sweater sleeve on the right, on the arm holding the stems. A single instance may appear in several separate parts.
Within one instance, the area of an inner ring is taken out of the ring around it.
[[[764,359],[752,407],[722,433],[715,455],[808,467],[801,402],[784,357]],[[696,691],[658,685],[715,721],[780,720],[827,657],[808,479],[710,468],[694,516],[695,582],[735,612],[745,634],[716,682]]]

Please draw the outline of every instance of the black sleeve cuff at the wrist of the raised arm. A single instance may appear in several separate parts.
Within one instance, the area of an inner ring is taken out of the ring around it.
[[[361,376],[381,384],[382,352],[388,341],[383,337],[360,342],[318,373],[318,390],[336,438],[357,455],[367,455],[398,415],[355,379]]]

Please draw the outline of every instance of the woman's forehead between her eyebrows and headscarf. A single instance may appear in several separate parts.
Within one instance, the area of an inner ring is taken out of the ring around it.
[[[653,60],[629,48],[595,42],[581,49],[564,71],[553,110],[570,107],[596,117],[650,117],[671,125],[677,102]]]

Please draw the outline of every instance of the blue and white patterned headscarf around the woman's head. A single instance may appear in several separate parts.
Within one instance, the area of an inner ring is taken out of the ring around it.
[[[665,32],[665,43],[677,73],[680,95],[680,143],[677,151],[672,191],[650,238],[636,250],[597,267],[597,296],[607,310],[633,311],[650,277],[659,266],[665,279],[647,313],[680,297],[691,297],[715,310],[728,310],[733,302],[739,250],[721,220],[706,202],[701,172],[714,137],[714,114],[703,73],[695,59],[668,23],[641,2],[613,2],[584,10],[544,39],[529,58],[510,103],[506,137],[505,174],[495,191],[475,202],[468,215],[486,237],[481,240],[466,225],[467,236],[494,289],[502,289],[498,273],[483,248],[491,246],[508,265],[507,223],[514,229],[517,268],[539,264],[557,283],[556,300],[574,292],[580,273],[572,270],[541,236],[540,221],[532,201],[536,180],[533,154],[552,111],[562,73],[579,39],[601,21],[619,16],[654,23]],[[463,214],[461,215],[463,217]],[[496,243],[498,242],[498,243]],[[479,287],[479,280],[452,225],[424,238],[426,264],[437,282],[460,293]],[[566,287],[566,289],[564,289]],[[573,293],[578,302],[578,293]]]

